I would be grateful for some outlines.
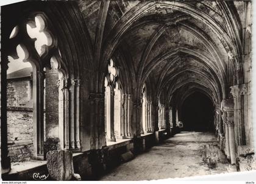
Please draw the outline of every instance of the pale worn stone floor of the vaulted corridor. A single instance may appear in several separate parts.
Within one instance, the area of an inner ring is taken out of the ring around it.
[[[181,132],[123,163],[100,180],[154,180],[228,172],[228,164],[217,163],[212,168],[204,163],[202,150],[207,144],[217,144],[212,133]]]

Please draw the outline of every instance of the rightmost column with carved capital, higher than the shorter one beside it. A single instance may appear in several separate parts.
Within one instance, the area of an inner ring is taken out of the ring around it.
[[[235,137],[236,144],[243,146],[246,145],[246,133],[245,133],[245,117],[246,113],[244,113],[244,107],[247,106],[247,85],[235,85],[231,88],[231,92],[234,97],[234,121],[235,121]]]

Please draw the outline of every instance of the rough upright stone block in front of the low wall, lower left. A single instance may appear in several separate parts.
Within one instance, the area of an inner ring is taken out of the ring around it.
[[[47,155],[47,168],[52,179],[71,180],[74,174],[73,154],[68,150],[50,150]]]

